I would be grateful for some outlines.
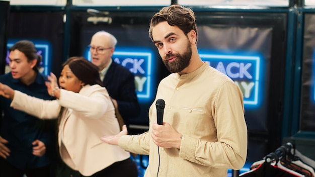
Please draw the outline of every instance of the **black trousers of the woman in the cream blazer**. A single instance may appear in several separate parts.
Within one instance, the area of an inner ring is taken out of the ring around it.
[[[71,177],[88,177],[80,174],[78,171],[75,171],[68,167],[64,162],[63,165],[59,163],[57,168],[57,176],[71,176]],[[59,174],[59,175],[58,175]],[[138,169],[136,162],[131,158],[128,158],[123,161],[118,161],[112,165],[106,167],[105,169],[94,173],[89,177],[137,177]]]

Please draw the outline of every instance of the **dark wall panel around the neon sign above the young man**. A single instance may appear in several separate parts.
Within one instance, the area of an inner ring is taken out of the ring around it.
[[[60,74],[63,60],[63,12],[11,12],[8,39],[47,44],[49,71]]]

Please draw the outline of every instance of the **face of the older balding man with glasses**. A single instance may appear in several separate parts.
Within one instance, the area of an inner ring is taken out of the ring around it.
[[[94,35],[91,40],[92,63],[99,68],[99,71],[108,65],[114,53],[114,48],[109,46],[109,40],[106,35]]]

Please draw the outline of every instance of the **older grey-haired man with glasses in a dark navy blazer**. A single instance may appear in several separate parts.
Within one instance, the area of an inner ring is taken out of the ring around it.
[[[99,68],[103,81],[115,109],[128,126],[129,119],[140,113],[135,93],[134,75],[125,67],[113,62],[112,56],[117,39],[110,33],[99,31],[91,39],[91,60]]]

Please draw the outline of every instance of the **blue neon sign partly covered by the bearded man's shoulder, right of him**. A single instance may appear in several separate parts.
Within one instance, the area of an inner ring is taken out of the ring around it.
[[[237,53],[199,50],[199,56],[210,66],[229,76],[237,84],[244,95],[244,105],[258,107],[261,103],[262,88],[262,57],[260,54]]]

